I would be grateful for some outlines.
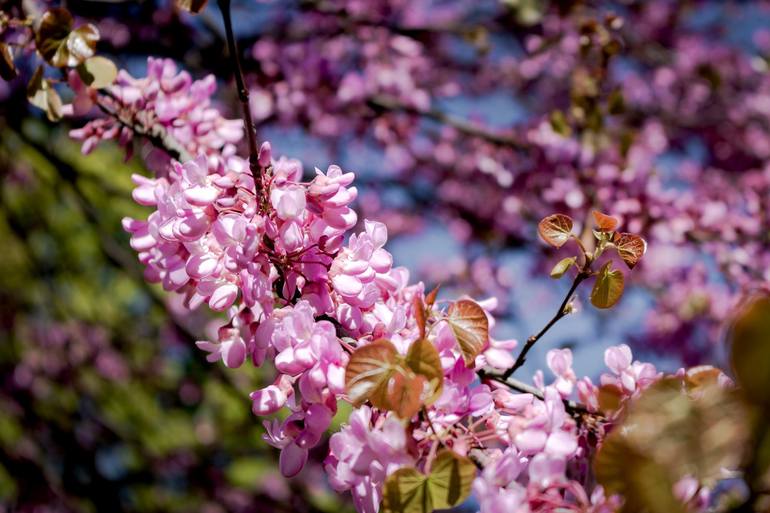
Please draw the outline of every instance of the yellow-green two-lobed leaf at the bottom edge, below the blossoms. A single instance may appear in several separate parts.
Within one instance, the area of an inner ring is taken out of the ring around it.
[[[431,513],[468,498],[476,466],[466,457],[444,450],[436,456],[429,476],[402,468],[388,476],[383,488],[383,513]]]

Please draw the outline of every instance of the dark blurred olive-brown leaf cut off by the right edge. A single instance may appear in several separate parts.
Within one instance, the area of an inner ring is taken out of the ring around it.
[[[770,298],[749,304],[733,323],[730,359],[743,394],[770,407]]]

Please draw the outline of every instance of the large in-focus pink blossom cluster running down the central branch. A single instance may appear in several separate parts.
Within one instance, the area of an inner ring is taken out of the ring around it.
[[[227,311],[217,339],[198,342],[209,360],[228,367],[272,363],[275,379],[251,394],[252,408],[259,416],[288,409],[284,418],[265,421],[265,439],[281,450],[282,473],[293,476],[346,398],[352,347],[387,338],[406,354],[420,338],[414,304],[424,293],[392,267],[384,225],[366,221],[345,240],[357,221],[352,173],[330,166],[303,181],[300,163],[273,159],[267,143],[259,162],[259,195],[246,162],[235,156],[202,155],[172,162],[160,178],[135,176],[135,200],[155,210],[124,225],[148,280],[182,294],[190,308],[205,303]],[[480,305],[488,311],[496,301]],[[548,353],[555,380],[535,376],[540,396],[514,393],[477,373],[510,366],[516,341],[490,339],[469,367],[442,309],[433,306],[432,315],[439,320],[427,337],[444,374],[441,396],[425,417],[407,419],[409,431],[393,413],[354,410],[330,442],[325,464],[333,487],[350,490],[360,512],[376,512],[387,476],[430,458],[440,433],[455,452],[481,452],[490,462],[473,486],[484,513],[570,504],[610,511],[617,499],[575,470],[587,466],[594,442],[564,401],[577,395],[595,409],[598,388],[577,378],[571,352]],[[612,374],[602,384],[617,385],[625,397],[659,377],[651,365],[633,362],[627,346],[609,349],[605,360]]]

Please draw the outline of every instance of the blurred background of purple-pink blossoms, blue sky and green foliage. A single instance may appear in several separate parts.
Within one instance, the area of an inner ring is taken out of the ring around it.
[[[143,76],[147,56],[161,56],[193,78],[213,73],[218,106],[238,116],[213,6],[193,18],[163,1],[66,4],[120,68]],[[359,217],[388,225],[396,263],[444,297],[498,297],[497,338],[526,339],[568,287],[547,277],[565,255],[536,242],[540,217],[600,208],[648,238],[650,262],[621,304],[597,313],[584,291],[527,379],[553,347],[572,348],[576,372],[593,377],[603,349],[624,342],[663,370],[724,364],[724,320],[765,287],[770,263],[764,235],[737,252],[746,234],[731,221],[747,190],[766,187],[735,177],[767,175],[769,9],[234,3],[259,137],[308,176],[332,163],[355,171]],[[248,398],[270,371],[207,363],[194,341],[220,321],[143,279],[121,219],[147,215],[130,176],[149,174],[148,145],[127,160],[114,142],[84,156],[68,131],[85,120],[47,121],[24,85],[0,81],[0,512],[350,511],[326,484],[324,445],[297,478],[278,473]],[[718,222],[705,204],[722,209]],[[683,222],[706,235],[682,236]]]

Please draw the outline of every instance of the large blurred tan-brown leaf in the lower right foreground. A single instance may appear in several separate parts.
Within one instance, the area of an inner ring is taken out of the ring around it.
[[[638,485],[655,490],[660,484],[645,481],[651,476],[637,475],[640,467],[660,474],[658,479],[668,483],[660,486],[670,491],[670,485],[685,476],[710,486],[722,469],[740,465],[749,412],[733,391],[705,381],[696,389],[689,387],[687,377],[658,381],[630,404],[621,425],[605,439],[596,459],[597,478],[609,491],[623,493],[627,500],[632,497],[632,504],[640,505],[638,511],[669,511],[652,507],[653,502],[666,504],[665,490],[642,496],[642,490],[635,489]]]

